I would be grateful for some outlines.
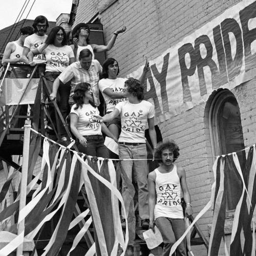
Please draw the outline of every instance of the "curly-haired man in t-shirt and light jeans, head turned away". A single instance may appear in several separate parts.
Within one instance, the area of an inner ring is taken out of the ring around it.
[[[147,63],[146,66],[148,66]],[[110,122],[118,115],[121,117],[121,134],[118,140],[119,158],[121,160],[125,159],[121,161],[121,164],[130,181],[132,181],[132,171],[134,170],[134,177],[138,184],[141,226],[148,228],[148,169],[145,127],[148,124],[148,132],[155,148],[157,139],[154,124],[154,107],[150,102],[143,100],[144,87],[139,80],[132,77],[128,78],[124,82],[123,91],[128,100],[119,102],[111,113],[103,117],[97,116],[97,118],[100,122]],[[122,196],[126,213],[129,212],[130,206],[130,204],[127,204],[129,202],[127,198],[130,197],[129,191],[127,185],[123,182]]]

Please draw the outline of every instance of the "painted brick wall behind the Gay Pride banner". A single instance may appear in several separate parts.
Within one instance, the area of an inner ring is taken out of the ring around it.
[[[142,66],[145,57],[154,59],[160,56],[166,49],[238,2],[240,1],[119,0],[100,14],[105,42],[110,40],[117,28],[124,25],[127,27],[125,33],[118,35],[115,46],[106,53],[106,57],[118,60],[119,77],[125,77]],[[86,10],[89,3],[91,5]],[[78,14],[79,22],[89,20],[96,13],[95,7],[94,1],[80,1],[79,13],[80,10],[86,10],[86,14],[91,14],[84,15],[86,19],[81,19]],[[232,90],[239,103],[246,146],[255,143],[256,137],[256,131],[253,129],[256,121],[254,84],[255,79]],[[177,163],[186,170],[194,216],[209,201],[213,181],[211,169],[215,158],[211,154],[208,127],[209,104],[210,102],[201,103],[159,124],[162,137],[174,139],[180,147]],[[212,210],[206,212],[198,222],[207,237],[208,224],[211,222]],[[193,252],[195,255],[206,255],[204,246],[194,247]],[[220,254],[222,253],[224,254],[223,250]]]

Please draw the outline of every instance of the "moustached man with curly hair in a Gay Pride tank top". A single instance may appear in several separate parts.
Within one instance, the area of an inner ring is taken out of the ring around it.
[[[163,237],[163,256],[185,231],[181,206],[181,189],[186,203],[185,217],[193,214],[190,194],[183,167],[174,164],[179,156],[179,147],[174,141],[160,143],[154,157],[159,167],[148,175],[148,205],[150,208],[150,228],[159,228]],[[183,240],[176,250],[177,256],[186,256],[186,242]]]

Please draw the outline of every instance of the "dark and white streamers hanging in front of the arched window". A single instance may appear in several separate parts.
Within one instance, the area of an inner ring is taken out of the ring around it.
[[[241,152],[240,152],[241,155]],[[211,207],[214,207],[208,256],[218,256],[221,242],[226,255],[255,255],[253,211],[256,204],[256,153],[250,147],[245,167],[242,169],[237,153],[217,157],[212,167],[215,182],[208,204],[199,212],[183,236],[173,245],[170,255],[193,227],[194,223]],[[230,184],[236,184],[230,187]],[[229,189],[228,189],[229,188]],[[233,188],[233,189],[232,189]],[[228,203],[235,203],[230,246],[225,241],[225,214]],[[251,232],[252,222],[252,232]]]

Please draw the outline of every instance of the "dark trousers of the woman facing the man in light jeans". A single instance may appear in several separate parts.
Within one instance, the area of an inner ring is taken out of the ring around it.
[[[78,142],[77,148],[79,152],[92,157],[109,158],[108,148],[104,145],[104,138],[102,135],[87,135],[83,136],[87,139],[87,146],[83,146]]]

